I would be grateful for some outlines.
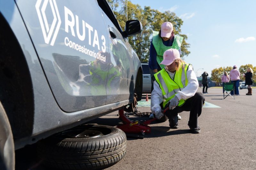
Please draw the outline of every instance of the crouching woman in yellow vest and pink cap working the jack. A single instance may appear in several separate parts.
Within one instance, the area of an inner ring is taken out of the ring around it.
[[[196,92],[198,81],[193,66],[180,59],[177,49],[164,52],[165,67],[155,76],[154,90],[151,93],[151,111],[161,119],[163,109],[169,107],[165,115],[169,118],[172,129],[179,127],[178,113],[190,111],[188,126],[192,133],[200,133],[197,118],[201,115],[204,95]],[[169,105],[169,106],[168,106]]]

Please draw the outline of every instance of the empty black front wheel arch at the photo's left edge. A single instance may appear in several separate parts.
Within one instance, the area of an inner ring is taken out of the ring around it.
[[[15,140],[32,134],[34,94],[27,60],[2,13],[0,22],[0,101]]]

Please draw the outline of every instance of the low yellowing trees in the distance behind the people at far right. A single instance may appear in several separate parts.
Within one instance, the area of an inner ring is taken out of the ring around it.
[[[246,65],[241,65],[239,67],[239,72],[240,72],[240,80],[241,81],[245,81],[245,78],[243,77],[243,73],[246,73],[247,72],[247,69],[248,68],[252,68],[252,71],[253,71],[253,76],[252,76],[252,79],[254,81],[254,84],[256,83],[256,66],[253,67],[252,64],[246,64]],[[221,83],[221,76],[223,75],[224,71],[227,71],[228,75],[230,73],[230,70],[232,70],[233,67],[231,66],[228,66],[228,67],[220,67],[220,68],[215,68],[212,70],[212,74],[211,74],[211,80],[213,82],[216,82],[216,83]]]

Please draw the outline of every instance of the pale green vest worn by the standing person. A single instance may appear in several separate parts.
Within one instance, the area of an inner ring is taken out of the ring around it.
[[[172,43],[172,46],[165,46],[163,44],[162,38],[158,36],[158,31],[153,31],[153,40],[152,43],[156,49],[156,61],[157,63],[160,65],[161,69],[164,68],[165,65],[160,64],[163,60],[164,60],[164,51],[166,51],[167,49],[170,48],[175,48],[177,50],[180,49],[181,47],[181,43],[183,40],[183,37],[179,36],[179,35],[174,35],[174,41]]]

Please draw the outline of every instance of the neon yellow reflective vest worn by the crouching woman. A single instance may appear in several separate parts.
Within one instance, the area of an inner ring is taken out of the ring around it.
[[[176,70],[173,79],[163,68],[154,74],[156,82],[159,84],[164,98],[163,107],[171,100],[178,91],[181,91],[188,85],[187,70],[190,64],[183,63],[179,70]],[[185,100],[181,99],[178,106],[182,106]]]

